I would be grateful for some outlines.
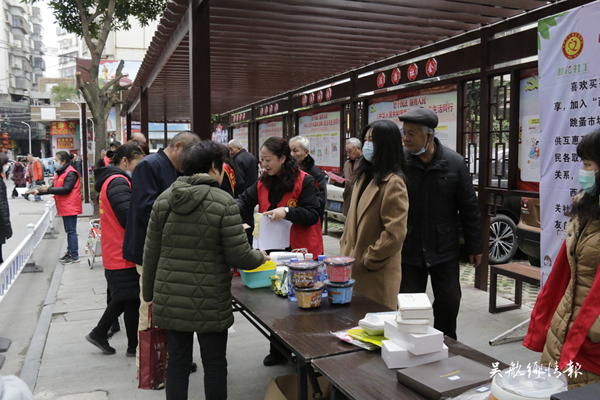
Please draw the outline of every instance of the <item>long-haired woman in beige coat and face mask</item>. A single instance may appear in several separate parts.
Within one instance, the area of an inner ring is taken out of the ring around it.
[[[398,126],[386,120],[368,125],[361,139],[363,160],[354,173],[340,252],[356,259],[354,289],[395,310],[408,216],[402,136]]]

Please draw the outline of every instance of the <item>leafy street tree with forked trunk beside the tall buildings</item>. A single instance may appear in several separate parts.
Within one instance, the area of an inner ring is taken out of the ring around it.
[[[31,3],[42,0],[23,0]],[[167,0],[48,0],[48,6],[58,25],[68,32],[79,35],[90,50],[92,59],[89,69],[83,68],[87,77],[77,72],[77,86],[92,113],[96,132],[96,148],[107,145],[106,120],[110,109],[120,104],[119,92],[131,85],[121,85],[123,60],[119,63],[114,78],[102,85],[98,72],[102,52],[111,31],[131,28],[130,18],[141,26],[147,26],[161,15]]]

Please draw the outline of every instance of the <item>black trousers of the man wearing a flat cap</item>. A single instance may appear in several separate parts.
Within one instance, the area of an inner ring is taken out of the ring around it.
[[[429,268],[402,264],[400,293],[425,293],[429,275],[434,297],[433,327],[456,339],[456,318],[462,296],[458,258]]]

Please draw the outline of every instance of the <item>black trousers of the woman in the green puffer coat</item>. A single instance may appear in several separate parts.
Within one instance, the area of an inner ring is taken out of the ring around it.
[[[165,329],[167,334],[167,400],[187,400],[194,332]],[[198,333],[206,400],[227,399],[227,331]]]

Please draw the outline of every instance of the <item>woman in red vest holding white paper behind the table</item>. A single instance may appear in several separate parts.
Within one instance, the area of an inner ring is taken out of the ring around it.
[[[260,148],[264,173],[236,199],[240,213],[252,210],[270,215],[271,221],[292,222],[290,250],[305,248],[315,259],[323,254],[323,233],[319,222],[319,189],[312,176],[300,170],[288,142],[270,137]],[[267,251],[268,252],[268,251]],[[283,362],[285,357],[271,346],[264,359],[266,366]]]

